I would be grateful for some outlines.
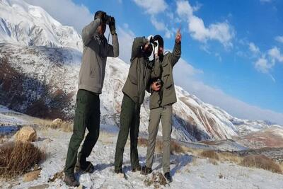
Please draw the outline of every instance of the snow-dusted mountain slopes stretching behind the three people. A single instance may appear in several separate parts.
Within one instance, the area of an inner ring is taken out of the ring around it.
[[[73,118],[82,55],[81,36],[73,28],[55,21],[42,8],[23,1],[0,1],[0,10],[0,41],[3,42],[0,44],[0,104],[43,118]],[[108,58],[100,96],[103,124],[119,125],[122,86],[128,70],[129,65],[121,59]],[[176,139],[231,139],[246,132],[245,125],[250,127],[248,131],[272,126],[233,118],[180,86],[175,90],[178,102],[173,105],[173,137]],[[147,93],[141,106],[141,133],[146,133],[148,120]]]

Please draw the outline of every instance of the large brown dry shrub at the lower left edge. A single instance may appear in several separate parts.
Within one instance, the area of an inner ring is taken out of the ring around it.
[[[29,171],[46,157],[30,142],[8,142],[0,147],[0,176],[11,178]]]

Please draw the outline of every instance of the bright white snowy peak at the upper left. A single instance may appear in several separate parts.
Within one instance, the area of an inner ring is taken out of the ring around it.
[[[0,42],[82,49],[81,36],[73,27],[21,0],[0,0]]]

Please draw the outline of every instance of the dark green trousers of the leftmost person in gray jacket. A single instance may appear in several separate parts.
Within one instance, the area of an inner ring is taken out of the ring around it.
[[[64,168],[65,175],[70,176],[74,173],[78,150],[83,141],[86,128],[88,129],[88,134],[86,135],[86,139],[81,147],[81,152],[79,153],[81,166],[86,164],[86,158],[91,154],[91,151],[98,140],[100,128],[100,100],[96,93],[79,90],[76,95],[74,130],[69,142]]]

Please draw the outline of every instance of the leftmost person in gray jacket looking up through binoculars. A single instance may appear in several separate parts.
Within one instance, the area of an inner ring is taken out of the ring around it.
[[[112,35],[112,45],[108,44],[104,33],[106,24]],[[70,186],[78,186],[74,178],[75,166],[84,172],[92,172],[93,164],[86,161],[96,144],[100,129],[100,99],[103,88],[107,57],[118,57],[119,44],[115,31],[115,19],[103,11],[97,11],[94,21],[86,25],[81,33],[83,39],[83,57],[79,72],[79,91],[76,96],[74,130],[69,142],[67,159],[64,168],[64,182]],[[88,134],[83,142],[79,158],[78,149],[84,134]]]

